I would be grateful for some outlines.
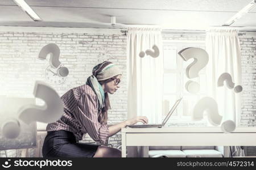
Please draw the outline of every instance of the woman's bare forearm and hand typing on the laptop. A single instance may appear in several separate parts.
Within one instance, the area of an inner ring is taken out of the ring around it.
[[[147,117],[145,116],[137,116],[129,120],[123,121],[119,124],[111,125],[109,126],[109,137],[118,133],[118,131],[120,131],[122,128],[125,128],[128,125],[136,124],[137,122],[142,122],[143,124],[147,124],[148,120],[147,120]]]

